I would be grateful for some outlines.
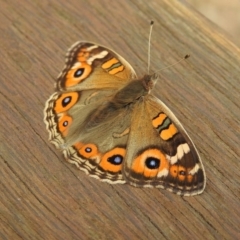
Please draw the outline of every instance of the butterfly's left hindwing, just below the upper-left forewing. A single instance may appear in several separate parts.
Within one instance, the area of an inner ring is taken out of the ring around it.
[[[57,148],[73,144],[88,115],[100,108],[102,101],[113,92],[112,90],[55,92],[46,102],[44,109],[49,140]]]

